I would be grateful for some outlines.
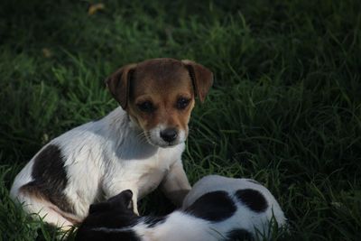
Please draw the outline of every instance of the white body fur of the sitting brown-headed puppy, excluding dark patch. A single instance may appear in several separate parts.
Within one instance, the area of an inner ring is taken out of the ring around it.
[[[65,160],[69,181],[64,194],[75,210],[75,215],[69,215],[69,218],[82,220],[88,215],[91,203],[115,196],[121,190],[133,191],[134,211],[137,212],[136,200],[154,190],[168,173],[172,173],[173,167],[180,173],[175,179],[179,178],[181,183],[180,187],[173,189],[190,189],[184,171],[178,170],[182,169],[180,156],[184,143],[168,148],[149,144],[144,139],[143,130],[121,107],[103,119],[61,134],[49,144],[59,146]],[[46,215],[44,220],[57,226],[71,225],[63,217],[66,215],[48,201],[34,199],[19,191],[32,181],[36,156],[16,176],[11,196],[23,202],[28,213]],[[172,183],[172,180],[168,182]]]

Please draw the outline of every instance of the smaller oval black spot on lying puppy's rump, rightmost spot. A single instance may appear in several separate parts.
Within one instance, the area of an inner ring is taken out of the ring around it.
[[[258,190],[237,190],[236,198],[255,212],[263,212],[268,208],[267,200],[264,199],[264,195]]]

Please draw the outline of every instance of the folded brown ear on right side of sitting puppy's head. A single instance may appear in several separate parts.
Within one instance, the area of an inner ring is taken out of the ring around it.
[[[213,85],[213,73],[203,65],[191,60],[181,60],[190,72],[190,79],[193,82],[194,94],[204,102],[209,88]]]

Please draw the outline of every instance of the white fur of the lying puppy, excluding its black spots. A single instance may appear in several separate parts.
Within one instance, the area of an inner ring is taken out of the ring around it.
[[[268,208],[262,212],[255,212],[240,203],[235,197],[236,190],[252,189],[263,194],[267,200]],[[190,207],[194,201],[202,195],[216,190],[227,191],[227,194],[236,204],[236,212],[222,221],[210,222],[202,218],[196,218],[182,210],[174,211],[159,224],[149,227],[147,217],[143,217],[132,227],[94,227],[94,231],[105,233],[121,233],[134,231],[142,241],[218,241],[226,239],[229,232],[235,229],[245,229],[254,237],[269,239],[271,237],[271,221],[277,223],[278,227],[286,225],[286,218],[282,209],[273,195],[261,184],[248,179],[232,179],[218,175],[204,177],[198,181],[190,193],[184,199],[182,209]],[[258,239],[257,238],[257,239]]]

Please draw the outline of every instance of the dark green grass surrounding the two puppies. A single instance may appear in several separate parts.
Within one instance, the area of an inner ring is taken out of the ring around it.
[[[56,5],[54,4],[56,3]],[[103,80],[140,60],[215,74],[183,162],[264,183],[289,240],[361,234],[361,1],[10,1],[0,4],[0,240],[54,240],[8,193],[43,144],[117,106]],[[156,192],[143,213],[165,212]]]

